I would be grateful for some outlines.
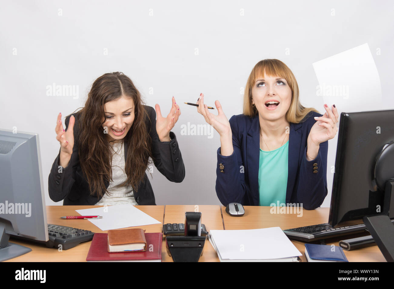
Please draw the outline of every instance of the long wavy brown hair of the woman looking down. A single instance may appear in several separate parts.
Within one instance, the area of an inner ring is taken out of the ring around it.
[[[94,81],[85,107],[78,111],[80,165],[89,184],[90,194],[97,194],[97,199],[108,192],[105,181],[112,181],[112,148],[102,127],[107,120],[104,104],[122,96],[131,97],[135,104],[134,121],[122,140],[128,142],[125,162],[127,179],[122,185],[130,184],[133,190],[137,191],[139,182],[145,180],[149,157],[152,158],[152,139],[145,125],[145,119],[149,118],[149,115],[143,106],[145,103],[141,94],[131,79],[122,72],[101,75]]]

